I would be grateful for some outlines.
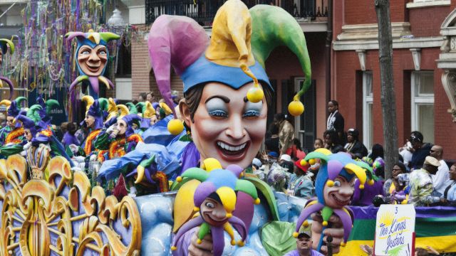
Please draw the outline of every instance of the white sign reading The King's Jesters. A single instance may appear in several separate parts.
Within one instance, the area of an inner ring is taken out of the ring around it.
[[[375,223],[376,256],[415,255],[415,208],[413,205],[381,205]]]

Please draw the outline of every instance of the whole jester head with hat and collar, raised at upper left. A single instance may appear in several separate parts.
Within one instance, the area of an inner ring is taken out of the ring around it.
[[[68,32],[65,36],[68,41],[75,37],[78,39],[75,58],[79,76],[71,83],[69,92],[83,80],[90,82],[89,94],[95,98],[98,98],[99,81],[103,82],[108,89],[114,87],[113,82],[105,78],[103,73],[109,58],[108,42],[117,40],[120,36],[110,32],[97,33],[91,29],[87,33]]]

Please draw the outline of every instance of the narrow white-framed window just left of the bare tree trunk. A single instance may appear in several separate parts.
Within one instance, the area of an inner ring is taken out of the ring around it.
[[[372,71],[363,72],[363,144],[372,148],[373,144],[373,90]]]

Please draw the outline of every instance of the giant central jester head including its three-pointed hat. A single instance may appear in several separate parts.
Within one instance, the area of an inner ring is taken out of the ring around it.
[[[299,97],[311,82],[306,39],[296,20],[279,7],[249,10],[240,0],[226,1],[214,18],[210,39],[191,18],[163,15],[152,24],[148,44],[167,105],[172,106],[171,65],[184,82],[180,113],[202,160],[219,159],[224,167],[252,163],[266,132],[264,92],[266,97],[272,93],[264,63],[276,46],[288,46],[301,62],[306,82],[290,113],[304,111],[304,106],[296,111],[295,105],[302,106]],[[179,124],[172,120],[168,129],[179,134],[182,129],[173,127]]]

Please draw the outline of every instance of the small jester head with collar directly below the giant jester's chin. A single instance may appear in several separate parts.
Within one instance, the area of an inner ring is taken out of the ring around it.
[[[213,166],[209,167],[207,163]],[[173,239],[171,250],[177,250],[176,243],[182,235],[199,226],[197,242],[201,243],[204,236],[210,232],[214,242],[214,255],[219,256],[222,255],[224,248],[224,230],[231,237],[232,245],[236,245],[233,228],[241,235],[241,240],[237,242],[237,245],[244,246],[247,238],[247,228],[244,221],[233,215],[237,201],[235,191],[249,194],[254,199],[255,204],[259,204],[259,198],[257,188],[253,183],[239,179],[243,170],[241,167],[230,165],[224,170],[216,159],[206,159],[204,165],[206,170],[191,168],[182,174],[182,177],[196,178],[202,181],[193,196],[195,211],[199,211],[199,214],[182,225]],[[177,181],[182,181],[182,177],[177,177]]]

